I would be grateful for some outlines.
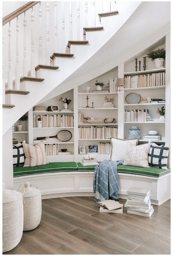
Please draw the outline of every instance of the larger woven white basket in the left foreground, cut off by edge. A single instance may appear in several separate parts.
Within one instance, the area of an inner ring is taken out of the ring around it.
[[[13,249],[23,234],[23,198],[21,193],[2,184],[2,252]]]

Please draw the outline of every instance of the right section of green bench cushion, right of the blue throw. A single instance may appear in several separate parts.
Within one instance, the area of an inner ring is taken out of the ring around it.
[[[150,168],[138,167],[138,166],[129,166],[129,165],[118,165],[118,172],[131,173],[131,174],[141,174],[146,176],[161,177],[170,173],[171,169],[160,169],[154,166]]]

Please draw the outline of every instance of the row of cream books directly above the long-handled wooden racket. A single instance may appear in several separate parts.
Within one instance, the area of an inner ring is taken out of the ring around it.
[[[38,117],[40,116],[33,114],[33,127],[37,127]],[[73,127],[73,116],[44,115],[42,116],[42,127]]]

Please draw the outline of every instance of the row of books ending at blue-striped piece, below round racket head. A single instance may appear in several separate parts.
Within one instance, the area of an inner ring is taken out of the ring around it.
[[[150,122],[153,119],[149,115],[148,109],[143,110],[125,110],[124,111],[124,122]]]

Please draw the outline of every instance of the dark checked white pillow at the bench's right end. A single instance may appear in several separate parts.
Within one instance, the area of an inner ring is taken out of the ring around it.
[[[167,169],[167,158],[170,144],[158,146],[152,143],[148,153],[148,164],[157,168]]]

